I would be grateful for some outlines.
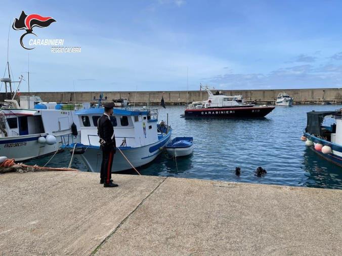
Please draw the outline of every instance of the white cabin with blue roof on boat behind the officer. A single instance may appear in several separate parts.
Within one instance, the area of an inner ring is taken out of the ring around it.
[[[100,146],[97,125],[103,113],[103,108],[76,111],[83,145]],[[117,147],[141,147],[158,141],[158,119],[151,111],[114,109],[110,119]]]

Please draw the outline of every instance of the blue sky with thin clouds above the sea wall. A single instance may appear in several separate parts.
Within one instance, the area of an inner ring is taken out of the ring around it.
[[[341,10],[340,1],[315,0],[3,0],[0,76],[9,38],[22,92],[28,63],[34,92],[199,90],[200,83],[221,90],[339,88]],[[22,11],[56,20],[33,28],[36,38],[64,39],[63,47],[81,52],[23,49],[25,30],[11,27]]]

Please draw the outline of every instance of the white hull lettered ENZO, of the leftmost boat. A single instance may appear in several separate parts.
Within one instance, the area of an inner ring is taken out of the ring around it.
[[[57,143],[54,145],[40,144],[38,138],[47,136],[48,134],[32,134],[16,137],[0,138],[0,156],[14,158],[15,161],[24,161],[32,158],[37,158],[47,154],[55,153],[62,145],[62,136],[55,136]],[[65,136],[65,135],[64,135]],[[72,134],[70,133],[70,136]],[[74,142],[80,142],[80,138],[75,137]]]

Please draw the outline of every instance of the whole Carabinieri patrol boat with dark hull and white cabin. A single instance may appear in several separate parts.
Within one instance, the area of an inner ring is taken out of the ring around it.
[[[189,104],[182,117],[223,117],[223,118],[253,118],[264,117],[274,106],[255,106],[241,104],[241,96],[213,95],[205,88],[209,97],[206,101],[197,101]]]

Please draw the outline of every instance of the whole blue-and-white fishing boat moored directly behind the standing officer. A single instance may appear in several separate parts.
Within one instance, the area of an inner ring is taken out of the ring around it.
[[[166,124],[158,124],[157,111],[113,111],[111,121],[117,150],[113,158],[112,173],[153,161],[169,142],[172,129]],[[81,143],[74,144],[72,140],[65,139],[64,148],[74,151],[75,156],[81,159],[91,172],[100,172],[101,169],[102,150],[97,134],[97,120],[103,113],[103,108],[76,111],[81,127]]]

